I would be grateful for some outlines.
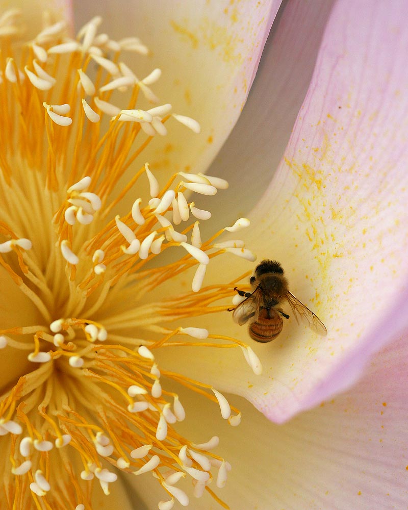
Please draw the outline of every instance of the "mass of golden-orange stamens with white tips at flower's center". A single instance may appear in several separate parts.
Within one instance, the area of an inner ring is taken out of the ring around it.
[[[125,50],[147,52],[138,39],[97,35],[94,18],[77,39],[57,22],[21,46],[13,41],[18,17],[10,11],[0,19],[7,56],[0,87],[0,275],[9,289],[0,348],[18,361],[0,397],[7,503],[91,508],[93,481],[109,494],[114,466],[154,474],[166,498],[161,510],[174,500],[188,504],[176,486],[186,476],[195,496],[208,491],[227,507],[209,488],[213,478],[223,487],[230,469],[212,452],[218,438],[195,444],[176,432],[185,411],[166,385],[218,403],[232,425],[240,413],[211,386],[159,366],[156,353],[169,346],[241,347],[260,373],[246,344],[184,322],[226,310],[214,303],[232,296],[236,282],[203,287],[206,267],[225,252],[253,260],[242,241],[217,242],[248,221],[202,241],[199,222],[211,213],[190,196],[198,202],[227,183],[179,172],[160,185],[143,160],[143,149],[174,120],[197,133],[199,125],[168,104],[137,108],[140,95],[158,103],[150,86],[161,74],[155,69],[139,80],[121,62]],[[123,89],[131,91],[126,109],[111,101]],[[138,171],[128,171],[132,165]],[[137,191],[144,185],[147,197]],[[191,291],[163,296],[160,287],[189,270]]]

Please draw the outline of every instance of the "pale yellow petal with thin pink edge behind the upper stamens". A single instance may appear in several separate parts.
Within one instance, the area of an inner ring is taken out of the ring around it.
[[[205,171],[233,129],[258,67],[281,0],[100,3],[101,30],[113,38],[137,36],[152,58],[127,54],[139,78],[160,67],[155,93],[175,113],[195,118],[201,135],[173,119],[171,133],[143,152],[152,169]],[[95,15],[92,3],[75,3],[77,26]],[[167,147],[165,151],[164,148]]]

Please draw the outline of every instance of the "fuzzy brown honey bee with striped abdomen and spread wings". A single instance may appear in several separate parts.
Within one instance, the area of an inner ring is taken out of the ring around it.
[[[297,322],[299,318],[319,335],[327,335],[327,329],[316,315],[305,307],[288,290],[288,281],[284,270],[275,260],[263,260],[256,267],[254,276],[249,280],[253,291],[244,292],[235,287],[240,296],[245,297],[237,308],[233,309],[233,319],[239,325],[249,324],[249,336],[257,342],[270,342],[281,333],[283,318],[289,319],[279,306],[286,299],[290,304]]]

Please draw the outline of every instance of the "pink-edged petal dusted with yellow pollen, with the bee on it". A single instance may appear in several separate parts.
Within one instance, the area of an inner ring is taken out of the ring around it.
[[[336,5],[284,159],[252,213],[252,246],[285,262],[291,291],[328,329],[323,339],[288,323],[257,350],[273,380],[246,394],[273,420],[352,384],[406,324],[405,15],[403,2]]]

